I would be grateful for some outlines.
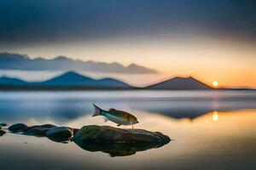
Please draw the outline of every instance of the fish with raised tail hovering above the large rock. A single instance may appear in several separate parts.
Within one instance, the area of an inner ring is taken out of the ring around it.
[[[106,122],[109,120],[111,122],[115,122],[117,123],[117,126],[121,126],[121,125],[133,125],[137,124],[137,117],[131,115],[130,113],[126,112],[126,111],[119,111],[119,110],[115,110],[113,108],[109,109],[108,111],[104,111],[101,108],[99,108],[98,106],[96,106],[95,104],[92,104],[94,106],[94,110],[95,113],[93,116],[105,116],[106,118]]]

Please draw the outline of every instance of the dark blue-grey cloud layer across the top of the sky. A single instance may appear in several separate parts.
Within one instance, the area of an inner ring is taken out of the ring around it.
[[[255,38],[256,1],[2,0],[0,44],[207,31]]]

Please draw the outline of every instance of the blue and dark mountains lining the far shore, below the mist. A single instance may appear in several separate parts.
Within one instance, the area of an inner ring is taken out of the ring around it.
[[[44,82],[26,82],[13,77],[0,77],[0,89],[154,89],[154,90],[207,90],[212,89],[193,77],[175,77],[145,88],[136,88],[113,78],[93,79],[74,71]]]

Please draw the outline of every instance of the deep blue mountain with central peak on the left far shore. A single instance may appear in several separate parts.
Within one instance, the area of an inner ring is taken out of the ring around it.
[[[113,78],[93,79],[76,72],[68,71],[61,76],[44,82],[25,82],[17,78],[0,77],[0,88],[132,88],[125,82]]]

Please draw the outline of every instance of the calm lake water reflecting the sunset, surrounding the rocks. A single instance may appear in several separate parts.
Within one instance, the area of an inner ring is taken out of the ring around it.
[[[136,128],[175,140],[111,157],[73,142],[9,133],[0,137],[0,169],[256,169],[253,91],[1,92],[0,122],[115,126],[91,117],[92,103],[129,111],[138,117]]]

